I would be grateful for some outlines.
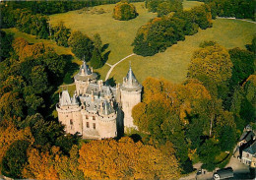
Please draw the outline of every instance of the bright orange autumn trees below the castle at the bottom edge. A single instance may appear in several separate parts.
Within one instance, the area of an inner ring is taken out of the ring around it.
[[[171,163],[169,163],[171,161]],[[134,143],[125,137],[94,141],[80,150],[79,169],[91,179],[178,179],[178,164],[173,154],[164,154],[152,146]]]

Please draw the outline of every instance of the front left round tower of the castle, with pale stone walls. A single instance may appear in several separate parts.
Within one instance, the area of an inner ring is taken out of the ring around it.
[[[59,95],[59,103],[56,104],[59,121],[65,125],[66,133],[82,134],[82,116],[76,92],[71,98],[68,90],[63,90]]]

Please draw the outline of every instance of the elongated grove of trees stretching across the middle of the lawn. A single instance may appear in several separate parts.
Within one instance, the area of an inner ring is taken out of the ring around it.
[[[205,30],[212,24],[211,10],[207,5],[155,18],[137,31],[133,51],[138,55],[153,56],[184,40],[185,35],[193,35],[199,28]]]

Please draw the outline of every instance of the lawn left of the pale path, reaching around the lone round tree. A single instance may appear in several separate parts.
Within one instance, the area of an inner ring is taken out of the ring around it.
[[[144,4],[143,2],[134,3],[139,16],[130,21],[114,20],[112,18],[112,10],[115,5],[111,4],[96,6],[88,12],[77,10],[52,15],[50,16],[50,24],[54,26],[62,21],[71,30],[81,30],[90,37],[93,37],[95,33],[99,33],[103,44],[109,44],[105,50],[105,52],[110,51],[107,63],[114,64],[133,52],[131,44],[137,30],[157,16],[157,14],[149,13]],[[94,13],[96,9],[100,8],[106,13],[99,15]],[[109,66],[105,65],[97,72],[104,79],[108,70]]]

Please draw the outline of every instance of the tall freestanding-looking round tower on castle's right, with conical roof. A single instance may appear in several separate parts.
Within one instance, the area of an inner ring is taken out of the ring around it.
[[[121,90],[121,105],[124,112],[124,128],[135,128],[133,124],[132,109],[141,102],[142,86],[133,74],[131,65],[127,76],[123,79]]]

